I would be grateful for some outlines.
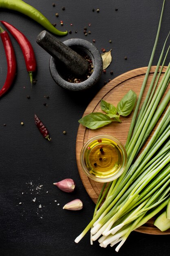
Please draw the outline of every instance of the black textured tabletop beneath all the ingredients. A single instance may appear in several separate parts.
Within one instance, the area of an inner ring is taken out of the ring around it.
[[[0,255],[116,255],[110,246],[102,248],[98,242],[90,245],[89,233],[78,244],[74,242],[91,220],[95,207],[84,189],[76,164],[78,120],[109,79],[148,65],[163,0],[26,2],[41,11],[51,23],[56,23],[60,30],[72,31],[65,37],[56,36],[61,41],[83,38],[93,43],[95,39],[94,44],[101,53],[102,48],[106,51],[112,49],[113,61],[106,74],[102,73],[99,82],[88,91],[64,90],[50,75],[49,54],[36,43],[36,37],[44,28],[19,12],[0,9],[0,19],[14,25],[30,40],[38,66],[34,75],[37,81],[31,90],[21,49],[10,35],[17,58],[17,74],[11,90],[0,99]],[[59,14],[58,18],[55,13]],[[63,27],[60,20],[63,20]],[[84,27],[91,34],[85,36]],[[167,0],[153,65],[157,64],[169,29],[170,1]],[[6,57],[0,41],[1,86],[6,74]],[[51,142],[44,139],[35,126],[35,113],[49,129]],[[23,126],[21,122],[24,122]],[[76,190],[71,194],[53,185],[53,182],[68,177],[76,182]],[[84,203],[81,211],[62,209],[64,204],[75,198]],[[39,208],[40,204],[42,208]],[[170,255],[169,236],[133,231],[118,255]]]

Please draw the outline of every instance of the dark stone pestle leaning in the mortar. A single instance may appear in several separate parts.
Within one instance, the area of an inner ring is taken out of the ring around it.
[[[67,70],[77,76],[83,76],[88,70],[88,61],[73,49],[60,42],[55,36],[43,30],[37,37],[37,43]]]

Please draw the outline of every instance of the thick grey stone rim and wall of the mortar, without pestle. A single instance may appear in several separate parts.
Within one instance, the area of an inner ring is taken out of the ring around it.
[[[75,52],[83,52],[84,54],[88,55],[93,63],[93,73],[83,82],[70,83],[64,79],[60,72],[61,63],[59,63],[55,58],[51,56],[49,68],[54,81],[62,88],[71,91],[80,91],[91,88],[91,86],[95,85],[95,83],[99,81],[103,70],[103,61],[99,50],[92,43],[80,38],[68,39],[63,43],[68,47],[71,47],[71,49],[73,49]]]

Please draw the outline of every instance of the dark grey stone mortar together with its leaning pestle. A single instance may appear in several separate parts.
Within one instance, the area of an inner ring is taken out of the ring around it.
[[[57,85],[79,91],[91,88],[99,81],[103,61],[99,50],[92,43],[80,38],[68,39],[62,43],[45,30],[38,35],[37,43],[51,55],[49,68]],[[84,56],[88,56],[88,61]],[[89,62],[93,69],[91,74]],[[72,80],[68,79],[70,76]]]

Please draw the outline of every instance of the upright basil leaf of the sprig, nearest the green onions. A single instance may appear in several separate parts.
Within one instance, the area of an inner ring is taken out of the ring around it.
[[[130,90],[117,104],[117,112],[119,115],[124,117],[128,116],[135,106],[136,98],[136,93]]]

